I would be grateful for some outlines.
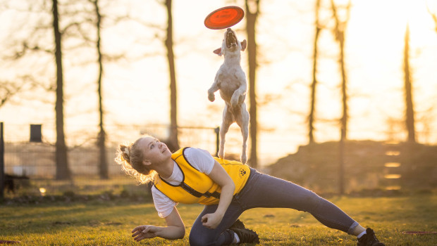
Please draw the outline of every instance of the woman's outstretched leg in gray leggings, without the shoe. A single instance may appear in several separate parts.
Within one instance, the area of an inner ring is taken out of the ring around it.
[[[354,234],[355,227],[359,225],[336,205],[311,190],[259,172],[235,199],[241,202],[242,209],[286,207],[309,212],[325,226],[349,234]]]

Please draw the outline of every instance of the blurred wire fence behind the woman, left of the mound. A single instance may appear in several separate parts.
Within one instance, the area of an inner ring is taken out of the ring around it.
[[[168,138],[168,125],[110,125],[106,126],[106,160],[108,160],[109,180],[99,179],[99,149],[97,148],[97,127],[75,126],[68,128],[66,143],[68,145],[68,168],[72,174],[70,181],[56,181],[54,127],[49,124],[36,125],[5,125],[1,135],[1,145],[4,148],[4,162],[1,171],[6,174],[6,181],[12,181],[13,186],[6,186],[7,195],[25,195],[39,193],[44,186],[45,192],[58,190],[75,190],[75,193],[87,191],[99,186],[101,189],[113,189],[123,185],[135,185],[136,181],[126,176],[121,167],[113,160],[119,143],[135,141],[138,137],[149,134],[165,141]],[[35,129],[37,133],[35,134]],[[33,130],[33,131],[32,131]],[[214,127],[178,127],[180,146],[195,146],[208,150],[215,155],[217,152],[218,129]],[[39,131],[39,132],[38,132]],[[233,131],[233,132],[232,132]],[[42,132],[42,134],[41,134]],[[232,135],[238,132],[231,130]],[[229,149],[237,147],[233,141],[227,143]],[[4,185],[5,182],[0,182]],[[90,184],[93,183],[93,186]],[[6,182],[6,185],[8,183]],[[16,189],[30,186],[32,190]],[[57,186],[55,188],[55,186]],[[62,188],[62,187],[63,188]],[[61,189],[59,189],[61,187]],[[79,187],[79,188],[78,188]],[[80,188],[82,187],[82,188]],[[1,190],[4,190],[3,188]],[[17,193],[21,190],[22,193]],[[24,191],[23,191],[24,190]]]

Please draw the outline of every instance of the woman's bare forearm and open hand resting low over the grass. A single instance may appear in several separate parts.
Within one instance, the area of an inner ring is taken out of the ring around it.
[[[135,227],[132,231],[133,239],[139,242],[145,238],[180,239],[185,236],[185,226],[176,207],[173,208],[173,211],[165,219],[167,226],[147,225]]]

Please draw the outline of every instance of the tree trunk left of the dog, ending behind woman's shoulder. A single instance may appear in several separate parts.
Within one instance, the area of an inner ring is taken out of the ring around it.
[[[171,14],[171,0],[166,0],[168,27],[167,27],[167,59],[170,72],[170,136],[168,137],[168,148],[171,151],[178,150],[178,101],[176,93],[176,69],[173,54],[173,17]]]

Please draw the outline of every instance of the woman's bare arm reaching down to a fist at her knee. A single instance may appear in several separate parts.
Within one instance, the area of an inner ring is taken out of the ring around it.
[[[213,214],[205,214],[202,217],[202,224],[207,228],[214,229],[219,226],[221,219],[223,219],[223,216],[232,201],[235,183],[225,169],[221,167],[221,164],[216,160],[214,160],[214,167],[209,173],[209,177],[221,187],[220,201],[216,212]]]

